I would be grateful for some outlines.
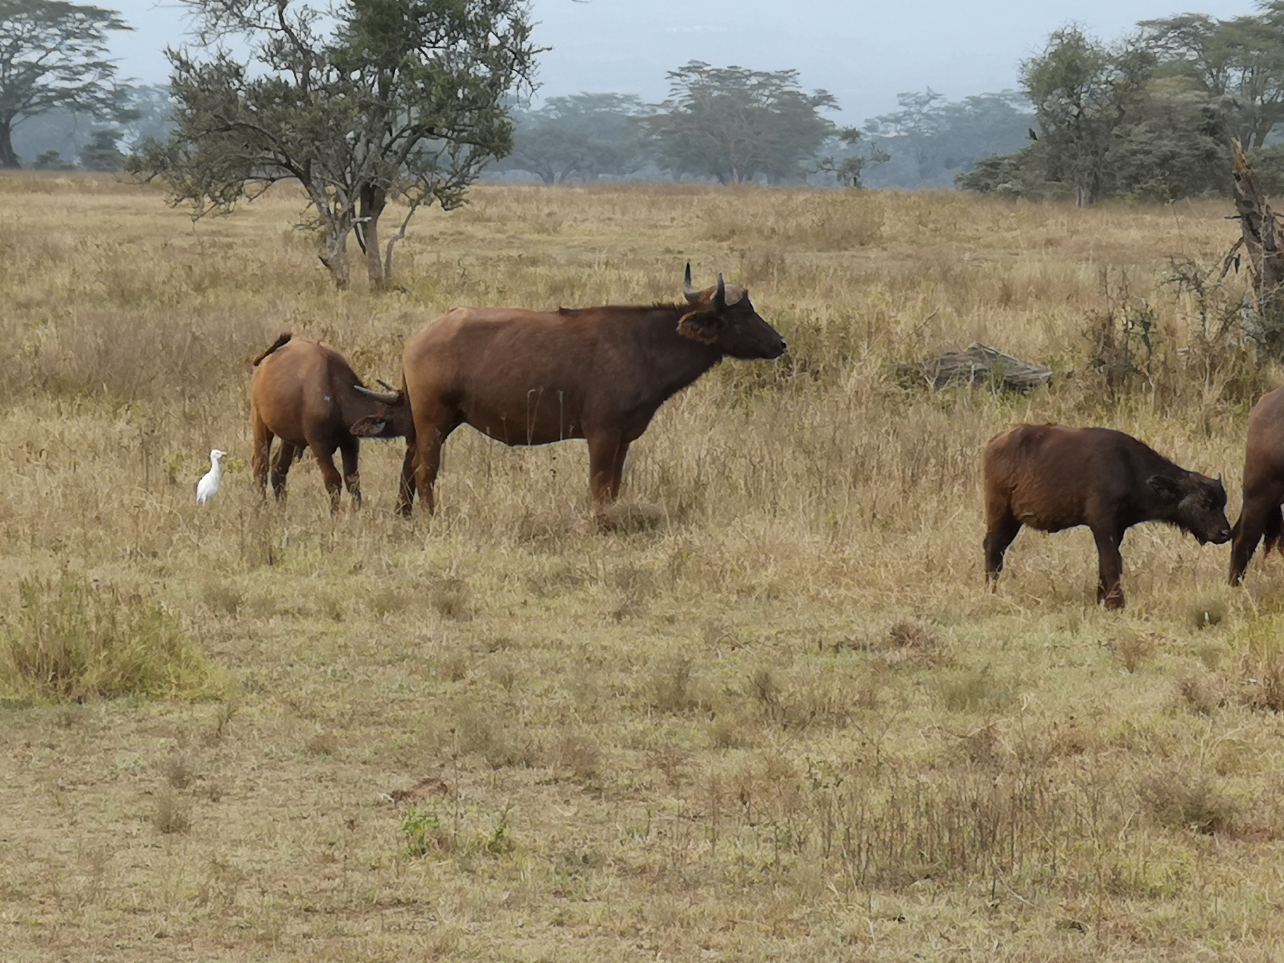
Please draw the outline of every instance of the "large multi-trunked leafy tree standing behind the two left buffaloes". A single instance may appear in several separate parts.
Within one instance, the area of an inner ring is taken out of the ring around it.
[[[252,54],[168,50],[173,130],[131,169],[166,180],[194,217],[297,180],[325,235],[321,262],[340,286],[351,234],[371,285],[383,288],[415,212],[458,207],[483,167],[511,149],[505,98],[530,85],[538,53],[523,0],[189,3],[203,46],[234,35]],[[408,211],[380,250],[380,217],[394,199]]]

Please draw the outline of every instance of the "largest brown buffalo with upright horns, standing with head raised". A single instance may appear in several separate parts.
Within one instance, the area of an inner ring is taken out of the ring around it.
[[[686,304],[553,312],[458,308],[406,343],[402,390],[415,417],[403,467],[428,511],[442,443],[462,424],[505,444],[588,442],[589,487],[601,507],[616,498],[629,444],[659,407],[724,357],[777,358],[785,340],[749,293],[684,281]],[[360,430],[360,429],[358,429]]]

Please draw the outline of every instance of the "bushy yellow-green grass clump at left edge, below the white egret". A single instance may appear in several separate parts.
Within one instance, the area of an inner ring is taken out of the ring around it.
[[[195,695],[212,666],[166,605],[62,574],[23,579],[5,618],[0,678],[22,696]]]

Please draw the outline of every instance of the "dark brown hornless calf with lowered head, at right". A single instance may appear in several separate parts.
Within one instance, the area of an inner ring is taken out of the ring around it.
[[[1108,428],[1017,425],[985,448],[985,577],[1022,525],[1043,532],[1088,525],[1097,539],[1097,601],[1124,607],[1124,534],[1140,521],[1166,521],[1199,543],[1230,538],[1226,489],[1186,471],[1150,447]]]

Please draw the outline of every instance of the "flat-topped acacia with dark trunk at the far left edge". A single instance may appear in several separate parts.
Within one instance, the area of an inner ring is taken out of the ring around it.
[[[18,167],[14,125],[65,108],[119,113],[107,33],[131,30],[116,10],[56,0],[0,0],[0,167]]]

